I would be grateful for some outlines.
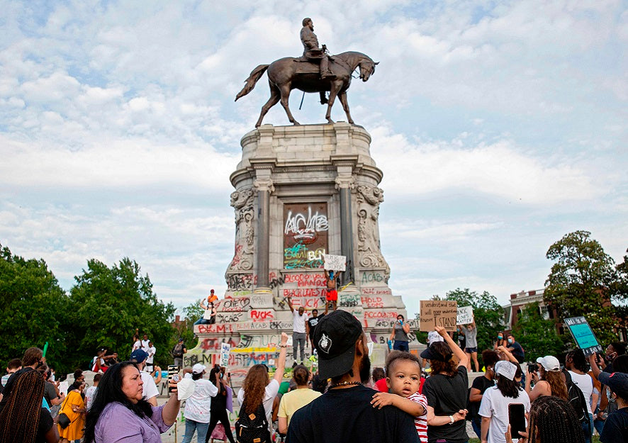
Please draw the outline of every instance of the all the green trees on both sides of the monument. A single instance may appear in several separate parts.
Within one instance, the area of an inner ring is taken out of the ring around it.
[[[628,252],[628,250],[627,250]],[[590,232],[568,233],[551,245],[546,258],[554,262],[545,282],[544,302],[556,310],[545,320],[539,306],[522,310],[515,337],[527,359],[558,355],[575,346],[568,333],[559,336],[556,322],[584,316],[603,346],[617,340],[628,318],[628,255],[615,265]],[[194,345],[194,320],[202,315],[198,301],[183,309],[184,319],[174,325],[175,307],[153,291],[148,275],[128,258],[108,267],[96,259],[87,262],[74,286],[64,291],[43,259],[24,259],[0,245],[0,362],[21,357],[30,346],[48,343],[47,360],[59,374],[88,369],[98,347],[128,358],[135,328],[157,347],[155,364],[164,367],[169,351],[183,337]],[[439,296],[434,296],[439,298]],[[449,291],[444,300],[473,306],[478,325],[478,350],[492,349],[505,328],[503,308],[495,296],[468,288]],[[417,332],[420,342],[425,333]]]

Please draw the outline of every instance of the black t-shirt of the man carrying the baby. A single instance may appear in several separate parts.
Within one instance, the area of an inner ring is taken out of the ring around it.
[[[331,389],[294,413],[290,443],[419,443],[414,417],[394,406],[373,408],[371,388]]]

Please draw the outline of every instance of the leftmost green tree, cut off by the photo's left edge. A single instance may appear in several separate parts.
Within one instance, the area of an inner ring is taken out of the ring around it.
[[[28,347],[43,349],[47,362],[65,371],[67,296],[43,260],[23,259],[0,245],[0,361],[21,358]],[[2,366],[5,367],[5,366]]]

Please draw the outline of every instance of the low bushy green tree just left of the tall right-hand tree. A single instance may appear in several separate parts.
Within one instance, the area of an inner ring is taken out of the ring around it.
[[[564,344],[556,334],[556,325],[553,320],[544,320],[539,309],[539,303],[530,303],[522,308],[514,328],[517,342],[525,351],[525,359],[537,361],[538,357],[558,355]]]

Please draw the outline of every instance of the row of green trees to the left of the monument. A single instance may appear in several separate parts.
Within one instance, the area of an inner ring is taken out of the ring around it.
[[[59,375],[89,369],[99,347],[128,359],[136,328],[157,347],[155,364],[165,367],[179,336],[191,343],[196,320],[173,328],[174,305],[157,298],[148,275],[131,259],[112,267],[89,260],[66,292],[43,259],[18,257],[2,245],[0,300],[0,362],[47,342],[47,362]]]

